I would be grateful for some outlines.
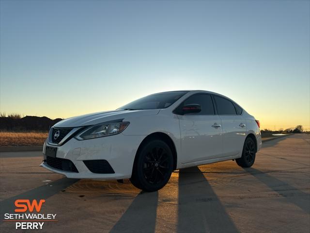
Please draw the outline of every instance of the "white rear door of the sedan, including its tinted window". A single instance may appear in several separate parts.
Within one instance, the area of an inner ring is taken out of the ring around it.
[[[242,109],[226,98],[216,95],[213,97],[222,122],[223,156],[237,155],[242,152],[247,132],[246,120],[241,115]]]

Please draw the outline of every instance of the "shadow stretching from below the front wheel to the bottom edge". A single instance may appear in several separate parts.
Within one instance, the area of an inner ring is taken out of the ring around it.
[[[152,193],[141,191],[113,226],[110,233],[155,232],[157,203],[158,191]]]

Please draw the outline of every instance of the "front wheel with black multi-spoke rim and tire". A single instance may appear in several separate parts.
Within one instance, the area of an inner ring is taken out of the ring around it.
[[[173,170],[170,147],[155,139],[144,144],[136,155],[131,183],[143,191],[153,192],[168,183]]]

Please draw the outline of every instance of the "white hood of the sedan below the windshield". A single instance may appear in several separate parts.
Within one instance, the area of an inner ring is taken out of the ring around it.
[[[74,116],[57,122],[54,127],[72,128],[80,126],[95,125],[102,122],[124,119],[126,117],[137,117],[158,114],[159,109],[146,110],[114,110],[99,113],[86,114],[82,116]]]

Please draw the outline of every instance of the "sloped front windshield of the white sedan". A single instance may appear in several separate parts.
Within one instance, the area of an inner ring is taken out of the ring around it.
[[[179,100],[187,91],[162,92],[143,97],[139,100],[132,101],[119,110],[138,110],[138,109],[159,109],[167,108],[176,100]]]

